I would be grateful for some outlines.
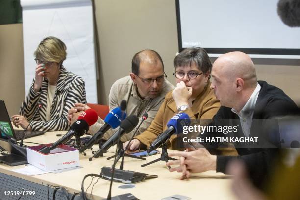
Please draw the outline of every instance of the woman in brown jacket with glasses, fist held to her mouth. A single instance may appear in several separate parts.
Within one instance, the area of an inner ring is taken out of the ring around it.
[[[185,110],[191,119],[212,119],[220,107],[213,90],[210,89],[212,64],[207,52],[200,47],[186,48],[174,58],[176,87],[167,93],[154,120],[148,129],[136,136],[128,151],[149,148],[159,134],[167,129],[167,123],[178,112]],[[170,149],[179,149],[176,134],[167,143]],[[124,147],[128,142],[123,144]]]

